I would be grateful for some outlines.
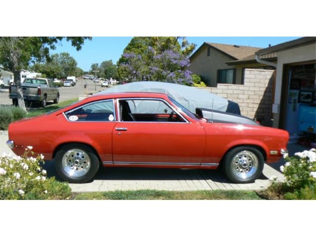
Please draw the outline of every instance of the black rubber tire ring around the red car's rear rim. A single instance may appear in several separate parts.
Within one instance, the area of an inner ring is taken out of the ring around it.
[[[63,164],[62,164],[64,155],[67,152],[75,150],[75,149],[79,149],[85,152],[88,155],[88,158],[90,161],[90,165],[89,165],[89,169],[87,173],[79,177],[74,177],[74,176],[69,175],[63,168]],[[72,143],[72,144],[67,144],[65,146],[62,146],[56,152],[55,167],[56,167],[57,173],[65,181],[68,181],[69,183],[86,183],[94,178],[95,174],[99,170],[100,162],[99,162],[99,158],[97,157],[93,149],[91,149],[89,146],[84,145],[84,144]]]

